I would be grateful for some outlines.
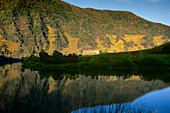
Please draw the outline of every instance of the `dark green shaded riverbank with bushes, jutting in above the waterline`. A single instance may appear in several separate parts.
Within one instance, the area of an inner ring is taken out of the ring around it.
[[[170,43],[147,50],[86,56],[63,55],[58,51],[48,55],[45,51],[42,51],[39,57],[32,55],[25,59],[23,66],[33,70],[163,70],[170,66],[169,53]]]

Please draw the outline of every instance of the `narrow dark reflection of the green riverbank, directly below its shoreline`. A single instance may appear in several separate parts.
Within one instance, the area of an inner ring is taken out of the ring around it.
[[[72,70],[72,71],[63,71],[63,70],[45,70],[41,69],[39,70],[39,74],[41,78],[48,78],[52,76],[55,80],[61,80],[64,78],[64,76],[67,76],[70,79],[76,79],[79,77],[80,74],[83,75],[90,75],[91,77],[95,78],[98,77],[98,75],[117,75],[117,76],[123,76],[124,79],[129,78],[133,75],[142,75],[142,78],[147,81],[152,80],[163,80],[166,83],[170,83],[170,72],[168,70]],[[57,76],[56,76],[57,75]]]

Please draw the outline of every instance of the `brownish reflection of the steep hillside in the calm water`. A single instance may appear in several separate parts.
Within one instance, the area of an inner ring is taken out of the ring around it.
[[[0,112],[71,112],[82,107],[131,102],[165,87],[162,81],[144,81],[140,76],[41,79],[37,71],[22,69],[21,64],[6,65],[0,67]]]

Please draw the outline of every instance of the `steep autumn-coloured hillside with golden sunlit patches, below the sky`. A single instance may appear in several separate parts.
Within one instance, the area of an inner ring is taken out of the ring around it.
[[[61,0],[0,0],[0,54],[12,57],[150,48],[170,41],[170,27],[127,11],[79,8]]]

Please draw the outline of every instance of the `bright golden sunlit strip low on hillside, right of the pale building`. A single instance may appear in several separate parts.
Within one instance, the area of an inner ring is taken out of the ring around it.
[[[122,38],[117,39],[115,35],[107,35],[110,39],[110,47],[105,47],[104,41],[97,40],[98,49],[107,52],[122,52],[122,51],[136,51],[154,46],[159,46],[170,39],[164,39],[163,36],[153,37],[152,41],[148,43],[146,35],[124,35]]]

